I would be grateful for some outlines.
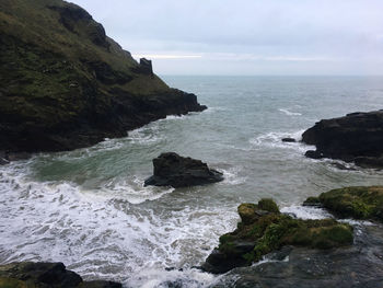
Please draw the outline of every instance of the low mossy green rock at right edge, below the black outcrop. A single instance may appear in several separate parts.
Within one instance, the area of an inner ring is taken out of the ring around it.
[[[369,219],[383,222],[383,186],[357,186],[332,189],[310,197],[306,206],[322,206],[340,218]]]

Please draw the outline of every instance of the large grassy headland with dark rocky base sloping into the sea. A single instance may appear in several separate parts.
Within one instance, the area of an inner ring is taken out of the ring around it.
[[[76,4],[2,0],[0,33],[0,150],[71,150],[206,108]]]

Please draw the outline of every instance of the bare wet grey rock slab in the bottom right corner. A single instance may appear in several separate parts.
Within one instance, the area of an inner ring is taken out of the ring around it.
[[[359,227],[355,244],[343,249],[312,250],[285,246],[279,261],[267,255],[265,263],[229,272],[217,288],[338,287],[381,288],[383,283],[383,227]],[[287,258],[288,256],[288,258]]]

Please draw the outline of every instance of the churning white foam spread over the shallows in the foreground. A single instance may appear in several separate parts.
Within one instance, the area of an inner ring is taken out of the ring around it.
[[[214,280],[190,267],[235,227],[235,209],[156,210],[132,205],[131,195],[124,196],[129,183],[107,187],[116,195],[94,193],[69,182],[28,180],[27,169],[20,162],[0,168],[0,263],[59,261],[85,279],[108,278],[128,287],[166,287],[175,278],[205,287]],[[142,198],[154,197],[147,193]]]

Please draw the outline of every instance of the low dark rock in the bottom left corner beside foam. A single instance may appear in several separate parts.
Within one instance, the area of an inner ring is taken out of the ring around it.
[[[121,288],[121,284],[105,280],[83,281],[62,263],[20,262],[0,266],[0,287],[21,288]]]

